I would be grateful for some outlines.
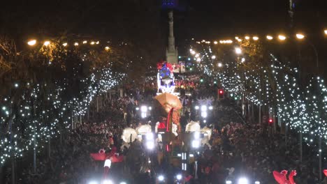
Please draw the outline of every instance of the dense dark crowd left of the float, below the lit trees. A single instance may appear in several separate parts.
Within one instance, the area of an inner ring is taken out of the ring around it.
[[[22,171],[21,183],[88,183],[92,178],[101,178],[103,162],[94,161],[90,153],[100,148],[110,151],[122,145],[122,130],[126,127],[124,111],[126,98],[104,100],[89,121],[76,123],[68,134],[52,139],[50,155],[37,158],[36,172],[32,164]],[[92,122],[92,123],[91,123]],[[118,151],[119,153],[119,151]]]

